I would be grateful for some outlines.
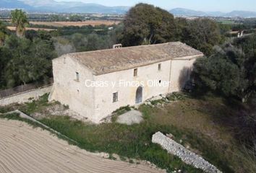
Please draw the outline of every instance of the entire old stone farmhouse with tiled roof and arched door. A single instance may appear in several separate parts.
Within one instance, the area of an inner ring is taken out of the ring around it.
[[[49,100],[99,123],[119,107],[180,91],[202,56],[180,42],[69,53],[53,60]]]

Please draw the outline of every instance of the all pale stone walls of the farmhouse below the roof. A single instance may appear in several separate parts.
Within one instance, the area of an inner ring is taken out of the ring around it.
[[[69,105],[70,109],[99,123],[119,107],[136,105],[140,86],[142,102],[159,94],[179,92],[189,79],[195,60],[195,57],[185,57],[140,66],[137,76],[134,76],[135,68],[94,76],[85,66],[63,56],[53,61],[54,86],[49,99]],[[161,64],[160,71],[158,64]],[[79,81],[76,81],[76,72]],[[114,102],[114,93],[118,93],[117,102]]]

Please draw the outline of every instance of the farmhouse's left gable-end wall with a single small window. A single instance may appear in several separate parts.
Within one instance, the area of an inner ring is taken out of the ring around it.
[[[78,74],[77,74],[78,73]],[[49,100],[69,105],[71,110],[90,120],[94,118],[94,88],[85,87],[85,80],[93,80],[93,74],[69,56],[53,61],[54,86]],[[79,81],[77,81],[77,75]]]

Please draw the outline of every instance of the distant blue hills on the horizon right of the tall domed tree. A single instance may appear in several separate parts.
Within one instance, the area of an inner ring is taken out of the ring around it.
[[[182,9],[176,8],[171,9],[169,12],[176,16],[193,16],[193,17],[202,17],[202,16],[212,16],[212,17],[256,17],[256,12],[247,12],[247,11],[233,11],[229,13],[223,12],[200,12],[192,9]]]

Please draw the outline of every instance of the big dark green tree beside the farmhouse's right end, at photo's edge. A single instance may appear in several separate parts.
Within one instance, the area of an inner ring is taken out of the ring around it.
[[[255,91],[256,51],[244,53],[230,43],[218,47],[212,56],[195,63],[194,76],[200,91],[211,90],[246,101]]]

